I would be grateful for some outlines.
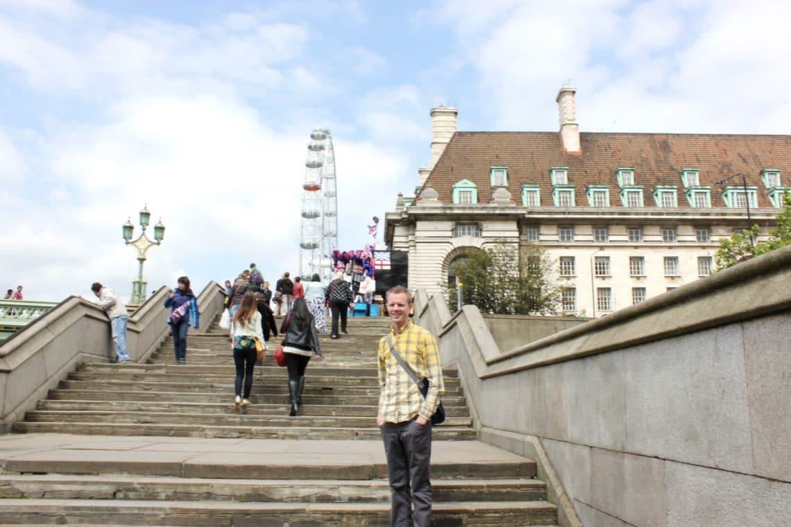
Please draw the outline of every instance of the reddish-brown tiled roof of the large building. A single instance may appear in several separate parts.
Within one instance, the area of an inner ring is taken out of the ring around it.
[[[677,188],[679,208],[689,208],[680,173],[697,168],[700,184],[710,186],[712,207],[725,207],[718,179],[744,172],[748,186],[758,187],[759,207],[773,205],[761,171],[780,171],[781,183],[791,185],[791,135],[600,134],[581,133],[581,152],[566,152],[558,132],[456,132],[431,172],[426,186],[444,203],[452,201],[452,186],[469,179],[478,186],[478,202],[489,203],[490,167],[507,167],[509,191],[521,204],[523,184],[537,184],[541,204],[552,205],[550,171],[569,169],[577,206],[588,206],[589,185],[607,185],[611,206],[620,206],[618,168],[634,168],[635,185],[643,186],[645,206],[654,206],[658,185]],[[741,178],[725,185],[740,186]]]

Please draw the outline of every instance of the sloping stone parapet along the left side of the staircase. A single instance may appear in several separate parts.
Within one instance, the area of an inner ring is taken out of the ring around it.
[[[131,314],[127,348],[134,363],[144,363],[170,334],[171,289],[162,287]],[[198,296],[200,331],[222,310],[223,288],[210,282]],[[96,303],[70,296],[0,344],[0,432],[9,431],[36,401],[47,397],[81,362],[108,362],[115,356],[107,315]]]

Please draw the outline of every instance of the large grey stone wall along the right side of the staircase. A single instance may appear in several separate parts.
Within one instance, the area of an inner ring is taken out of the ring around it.
[[[546,461],[561,525],[768,527],[791,525],[788,284],[791,247],[504,353],[475,307],[415,313],[480,439]]]

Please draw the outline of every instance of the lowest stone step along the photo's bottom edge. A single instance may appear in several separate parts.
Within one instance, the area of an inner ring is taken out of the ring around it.
[[[534,502],[447,502],[433,504],[435,525],[554,525],[556,508]],[[8,499],[6,525],[84,522],[110,525],[389,525],[389,503],[236,503],[122,499]]]

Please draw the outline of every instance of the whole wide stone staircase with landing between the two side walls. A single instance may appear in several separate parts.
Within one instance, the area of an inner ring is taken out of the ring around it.
[[[252,405],[234,410],[232,354],[216,327],[187,337],[186,366],[169,338],[146,364],[81,364],[0,437],[0,524],[388,525],[375,422],[387,329],[385,318],[351,318],[349,335],[322,335],[297,417],[272,349]],[[536,464],[475,441],[456,371],[444,373],[436,525],[554,525]]]

